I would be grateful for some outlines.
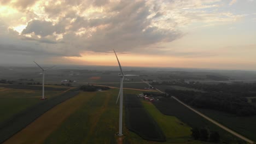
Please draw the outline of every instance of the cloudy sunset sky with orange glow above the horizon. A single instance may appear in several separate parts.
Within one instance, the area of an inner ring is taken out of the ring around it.
[[[256,70],[255,0],[0,0],[0,64]]]

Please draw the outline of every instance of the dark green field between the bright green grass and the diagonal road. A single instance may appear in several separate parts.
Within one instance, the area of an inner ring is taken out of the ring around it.
[[[242,142],[242,140],[229,134],[223,129],[220,129],[219,127],[212,124],[211,122],[208,122],[206,119],[192,112],[187,107],[184,107],[182,104],[178,103],[178,101],[172,98],[166,98],[160,101],[154,101],[153,104],[159,109],[159,111],[164,113],[164,115],[175,116],[178,119],[180,119],[182,122],[187,123],[192,128],[207,127],[211,131],[218,131],[220,134],[220,139],[223,142],[228,142],[228,143]]]

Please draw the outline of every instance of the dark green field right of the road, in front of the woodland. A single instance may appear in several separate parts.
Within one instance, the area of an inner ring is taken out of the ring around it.
[[[256,116],[237,117],[235,115],[207,109],[198,109],[203,114],[215,119],[219,123],[224,124],[237,133],[256,141]],[[232,122],[232,123],[230,123]]]

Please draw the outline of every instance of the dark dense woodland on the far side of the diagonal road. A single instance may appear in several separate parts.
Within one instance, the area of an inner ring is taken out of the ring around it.
[[[166,89],[173,95],[191,106],[201,109],[212,109],[232,113],[237,116],[256,115],[256,106],[247,102],[245,97],[232,93],[195,92]]]

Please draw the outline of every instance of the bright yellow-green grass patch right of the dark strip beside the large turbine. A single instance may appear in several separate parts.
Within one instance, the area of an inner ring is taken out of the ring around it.
[[[149,101],[142,100],[142,104],[149,114],[159,124],[160,128],[164,132],[167,141],[173,141],[175,139],[190,139],[191,131],[187,124],[179,121],[174,116],[167,116],[162,114],[156,107]]]

